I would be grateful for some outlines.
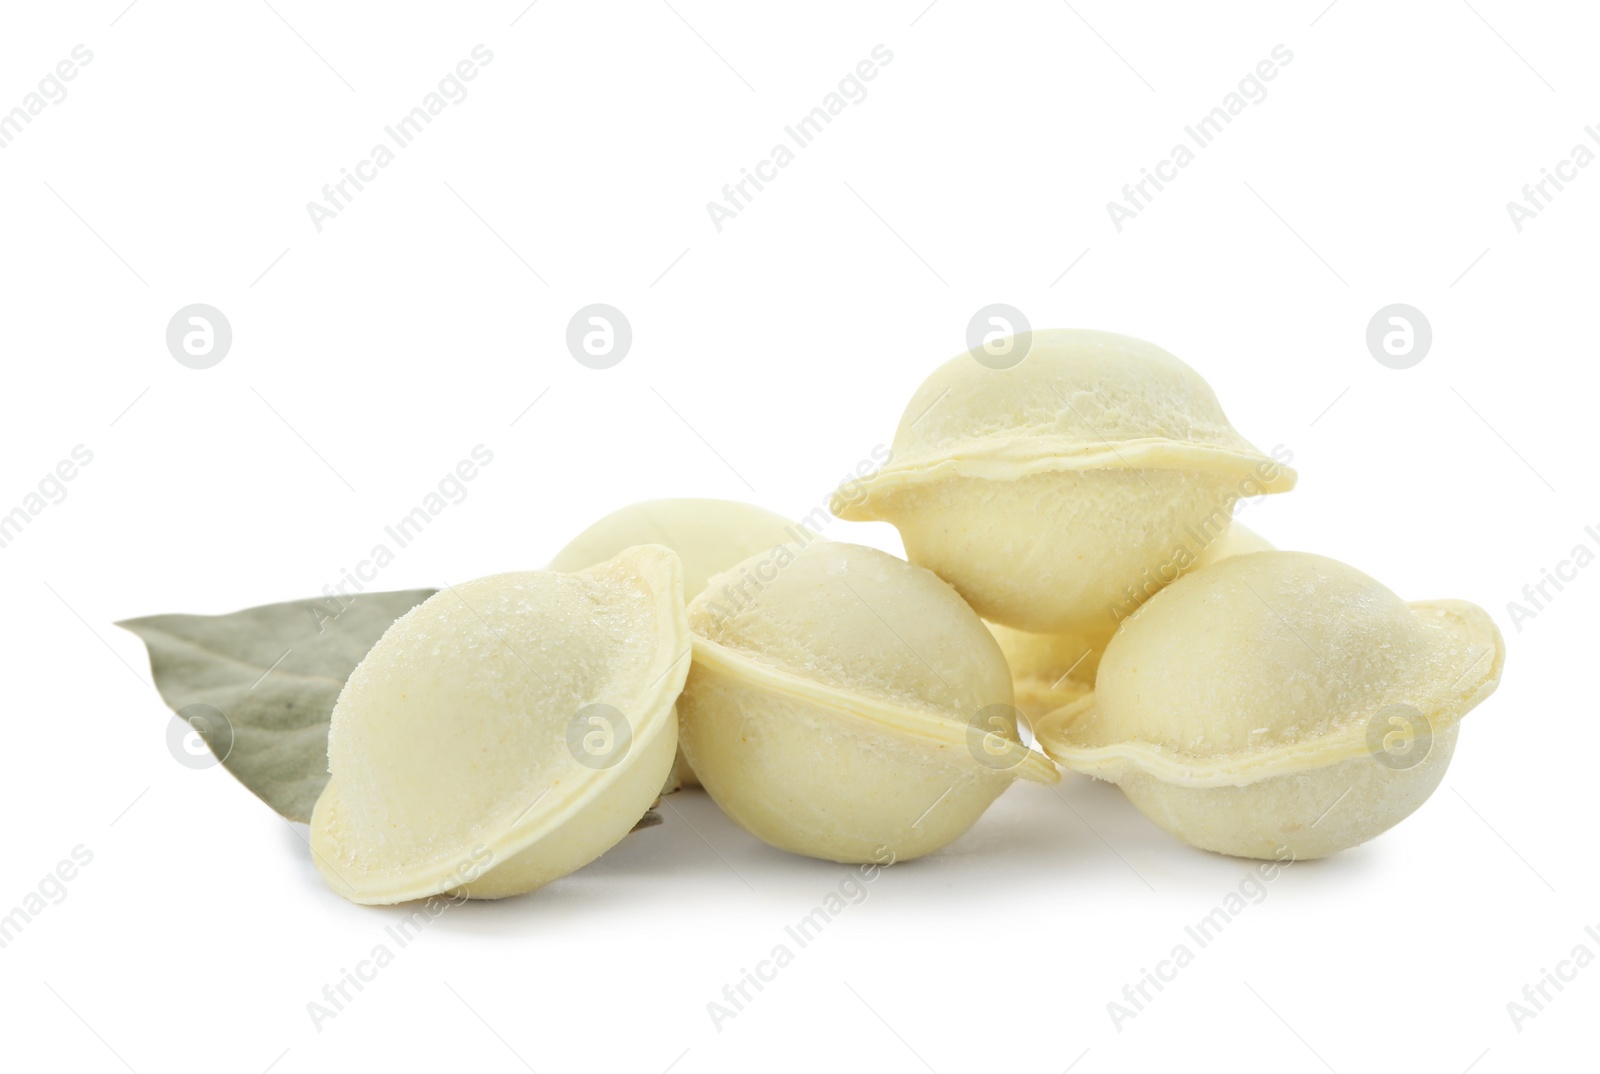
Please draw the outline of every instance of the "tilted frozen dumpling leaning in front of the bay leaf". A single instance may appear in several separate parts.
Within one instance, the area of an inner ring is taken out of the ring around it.
[[[659,794],[688,664],[666,547],[440,591],[339,693],[317,868],[355,903],[402,903],[518,895],[587,864]]]

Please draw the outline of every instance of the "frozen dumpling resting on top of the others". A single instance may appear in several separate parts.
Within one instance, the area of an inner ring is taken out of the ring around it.
[[[894,523],[906,555],[986,619],[1093,639],[1133,610],[1130,592],[1190,567],[1238,499],[1293,485],[1173,355],[1050,330],[1013,368],[970,354],[939,367],[906,407],[893,461],[834,512]]]

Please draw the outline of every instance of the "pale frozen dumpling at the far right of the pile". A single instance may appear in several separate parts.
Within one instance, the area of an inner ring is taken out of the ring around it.
[[[1094,693],[1035,733],[1187,844],[1320,858],[1427,799],[1504,659],[1477,605],[1408,605],[1336,560],[1254,552],[1152,597]]]

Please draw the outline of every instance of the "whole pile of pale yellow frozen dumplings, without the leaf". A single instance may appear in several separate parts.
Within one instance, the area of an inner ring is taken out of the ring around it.
[[[1010,368],[934,370],[890,463],[835,495],[838,517],[893,523],[904,560],[661,499],[397,619],[333,711],[328,884],[357,903],[531,892],[696,784],[766,844],[840,863],[933,853],[1061,770],[1242,858],[1405,820],[1499,683],[1490,616],[1235,523],[1296,474],[1160,347],[1018,343]]]

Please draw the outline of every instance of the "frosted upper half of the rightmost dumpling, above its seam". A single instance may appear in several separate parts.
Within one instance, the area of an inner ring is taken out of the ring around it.
[[[1389,704],[1429,712],[1462,666],[1443,627],[1358,570],[1256,552],[1195,571],[1134,613],[1072,735],[1200,759],[1314,743]]]

